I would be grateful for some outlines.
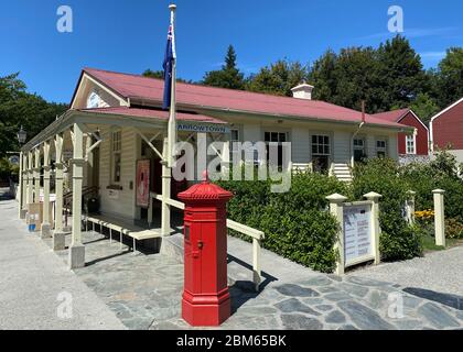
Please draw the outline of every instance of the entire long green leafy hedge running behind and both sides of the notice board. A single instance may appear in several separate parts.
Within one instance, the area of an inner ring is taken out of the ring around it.
[[[417,191],[417,210],[432,209],[432,189],[448,190],[445,213],[461,233],[463,182],[450,154],[440,153],[430,164],[407,166],[389,158],[375,158],[357,164],[353,172],[352,185],[322,174],[299,173],[292,177],[291,189],[286,194],[272,194],[270,180],[218,184],[235,195],[228,204],[229,218],[263,231],[263,248],[320,272],[335,268],[337,254],[333,246],[340,224],[327,211],[325,199],[334,193],[349,200],[360,200],[370,191],[383,195],[379,250],[385,262],[409,260],[423,253],[423,229],[410,227],[405,220],[409,190]]]

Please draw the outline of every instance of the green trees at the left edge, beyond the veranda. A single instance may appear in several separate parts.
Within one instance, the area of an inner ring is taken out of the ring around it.
[[[31,139],[67,110],[64,103],[50,103],[26,92],[18,77],[19,73],[0,77],[0,157],[19,150],[17,132],[21,125]]]

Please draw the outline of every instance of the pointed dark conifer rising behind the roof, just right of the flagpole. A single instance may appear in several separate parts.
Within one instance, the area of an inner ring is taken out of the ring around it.
[[[245,89],[245,75],[236,66],[236,52],[229,45],[225,56],[225,64],[219,70],[205,74],[203,85],[229,89]]]

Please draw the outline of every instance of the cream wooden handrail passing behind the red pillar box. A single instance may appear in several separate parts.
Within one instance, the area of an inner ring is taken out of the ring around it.
[[[163,199],[162,195],[158,195],[157,193],[150,193],[150,198],[159,201],[165,201],[169,206],[185,210],[185,204],[171,198]],[[151,207],[152,201],[150,200],[149,209],[151,209]],[[152,211],[149,210],[149,213],[151,212]],[[259,287],[262,282],[262,270],[260,263],[261,241],[266,238],[266,234],[262,231],[252,229],[246,224],[233,221],[230,219],[227,219],[227,228],[241,234],[249,235],[252,239],[252,282],[256,286],[256,290],[259,292]]]

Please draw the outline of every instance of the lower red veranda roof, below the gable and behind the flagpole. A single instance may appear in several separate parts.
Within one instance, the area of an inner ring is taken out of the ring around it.
[[[79,109],[79,111],[93,112],[93,113],[105,113],[105,114],[119,114],[130,116],[139,118],[155,118],[159,120],[169,120],[169,112],[163,110],[153,109],[139,109],[129,107],[111,107],[111,108],[97,108],[97,109]],[[176,112],[176,119],[179,121],[194,121],[194,122],[209,122],[209,123],[226,123],[216,118],[206,117],[204,114]]]

